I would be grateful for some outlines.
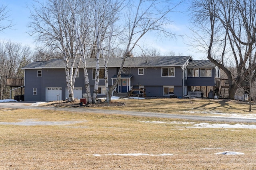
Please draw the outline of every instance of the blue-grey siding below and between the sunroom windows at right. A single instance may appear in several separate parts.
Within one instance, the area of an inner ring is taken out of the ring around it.
[[[200,70],[200,69],[199,69]],[[215,69],[212,68],[212,77],[188,77],[185,86],[214,86]]]

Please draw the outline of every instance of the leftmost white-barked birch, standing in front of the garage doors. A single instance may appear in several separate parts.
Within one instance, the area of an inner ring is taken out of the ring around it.
[[[65,0],[37,1],[32,6],[30,24],[31,35],[37,35],[37,41],[58,51],[65,64],[66,84],[68,87],[68,101],[74,101],[74,84],[80,66],[81,58],[77,58],[74,40],[74,18],[70,6]],[[75,70],[74,70],[75,68]]]

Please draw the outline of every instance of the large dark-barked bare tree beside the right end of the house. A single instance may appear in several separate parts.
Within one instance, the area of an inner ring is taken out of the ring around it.
[[[245,66],[249,56],[256,51],[256,1],[193,0],[190,10],[194,46],[203,49],[207,58],[224,70],[230,86],[229,98],[234,99],[238,84],[248,74]],[[228,69],[230,59],[236,65],[236,77]]]

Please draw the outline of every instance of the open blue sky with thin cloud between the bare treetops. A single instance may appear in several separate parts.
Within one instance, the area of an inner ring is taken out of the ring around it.
[[[28,45],[32,48],[35,47],[34,37],[31,37],[26,33],[29,31],[27,25],[30,22],[30,11],[26,8],[26,5],[28,4],[29,6],[32,2],[32,0],[3,0],[0,2],[7,5],[10,19],[12,19],[14,24],[12,29],[6,29],[4,32],[0,32],[1,41],[10,40],[22,43],[22,45]],[[161,55],[166,55],[168,51],[173,51],[176,55],[192,55],[194,59],[201,59],[204,55],[190,50],[191,47],[184,42],[187,39],[185,34],[189,34],[189,29],[187,27],[189,25],[189,16],[188,13],[186,13],[186,11],[188,11],[187,7],[185,5],[179,6],[177,11],[180,12],[172,12],[170,14],[170,18],[174,22],[170,23],[169,27],[173,33],[183,35],[184,37],[177,36],[176,39],[165,37],[156,39],[156,36],[149,34],[140,41],[140,44],[145,47],[159,49]]]

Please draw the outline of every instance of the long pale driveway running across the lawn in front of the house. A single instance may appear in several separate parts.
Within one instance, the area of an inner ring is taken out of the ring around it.
[[[35,103],[35,102],[0,103],[0,108],[63,110],[63,111],[78,111],[78,112],[83,112],[83,113],[120,114],[120,115],[132,115],[132,116],[139,116],[139,117],[174,118],[174,119],[187,119],[187,120],[197,120],[197,121],[223,121],[223,122],[237,122],[237,123],[256,123],[256,118],[177,115],[177,114],[153,113],[153,112],[137,112],[137,111],[106,110],[106,109],[90,109],[89,107],[44,107],[44,106],[31,106],[31,104],[33,104],[33,103]]]

